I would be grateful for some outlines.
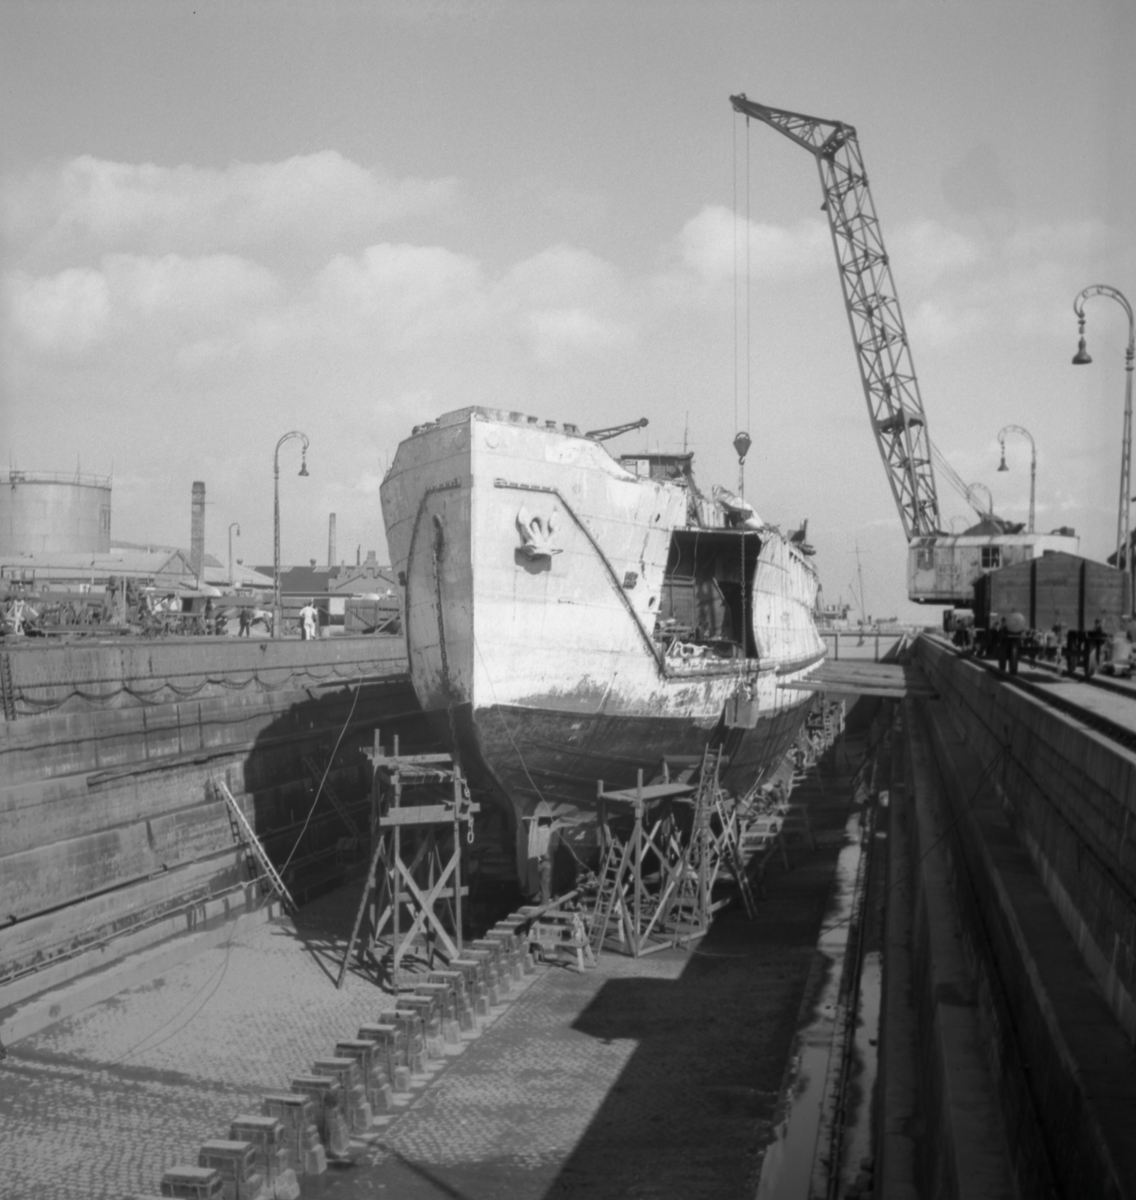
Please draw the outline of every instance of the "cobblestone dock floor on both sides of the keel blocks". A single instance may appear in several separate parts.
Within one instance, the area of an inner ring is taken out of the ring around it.
[[[822,772],[824,770],[822,766]],[[816,850],[770,864],[755,922],[719,914],[695,950],[539,967],[305,1196],[576,1200],[752,1195],[803,1008],[848,811],[830,773]],[[265,1092],[373,1020],[373,983],[335,988],[359,884],[296,923],[214,949],[8,1048],[0,1195],[158,1192]]]

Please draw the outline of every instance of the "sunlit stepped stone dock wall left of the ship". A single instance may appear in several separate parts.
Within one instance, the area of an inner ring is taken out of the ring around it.
[[[361,750],[374,728],[427,737],[399,637],[0,654],[16,714],[0,721],[0,988],[52,962],[58,974],[61,959],[108,938],[137,943],[139,926],[157,934],[170,914],[192,925],[220,893],[238,889],[244,904],[245,856],[212,779],[227,781],[277,865],[293,856],[293,888],[342,876],[350,830],[326,797],[305,828],[315,787],[305,756],[330,754],[342,732],[327,785],[366,829]]]

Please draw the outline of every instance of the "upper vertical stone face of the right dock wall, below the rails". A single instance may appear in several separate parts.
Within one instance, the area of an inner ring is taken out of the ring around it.
[[[1002,755],[993,784],[1015,833],[1136,1042],[1136,755],[937,641],[916,653],[975,752]]]

